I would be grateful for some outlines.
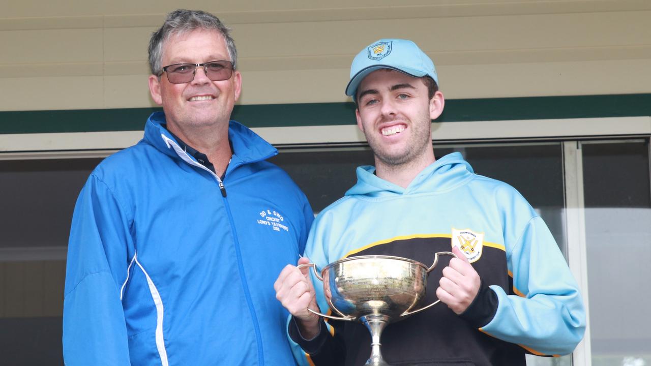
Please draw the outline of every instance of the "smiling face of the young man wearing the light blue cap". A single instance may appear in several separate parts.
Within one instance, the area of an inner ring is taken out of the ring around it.
[[[421,79],[381,69],[363,79],[357,95],[357,126],[375,154],[376,165],[434,162],[431,125],[443,111],[441,92],[430,100]]]

